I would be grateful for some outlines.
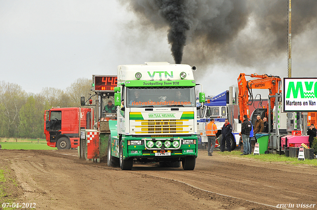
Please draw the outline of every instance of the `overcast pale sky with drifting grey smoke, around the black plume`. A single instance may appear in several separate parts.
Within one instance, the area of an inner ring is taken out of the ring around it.
[[[151,2],[0,0],[0,81],[38,93],[115,75],[121,64],[175,63],[169,25]],[[237,86],[242,72],[287,77],[285,0],[185,2],[193,7],[182,63],[197,66],[206,95]],[[316,0],[292,4],[292,76],[317,77]]]

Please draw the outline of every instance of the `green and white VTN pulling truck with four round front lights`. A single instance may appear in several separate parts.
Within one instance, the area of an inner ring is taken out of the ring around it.
[[[114,88],[117,123],[109,122],[108,166],[119,159],[193,170],[197,158],[196,67],[167,62],[120,65]],[[205,101],[204,93],[199,94]]]

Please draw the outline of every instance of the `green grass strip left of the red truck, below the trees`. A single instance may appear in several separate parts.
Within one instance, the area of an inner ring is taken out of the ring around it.
[[[47,145],[45,139],[1,138],[1,149],[7,150],[56,150]]]

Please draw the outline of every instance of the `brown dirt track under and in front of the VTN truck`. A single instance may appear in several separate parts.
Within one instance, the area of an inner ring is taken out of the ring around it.
[[[0,166],[15,172],[21,186],[14,190],[16,203],[36,203],[43,210],[267,210],[317,204],[316,167],[200,151],[193,171],[155,164],[122,171],[77,156],[77,150],[0,150]]]

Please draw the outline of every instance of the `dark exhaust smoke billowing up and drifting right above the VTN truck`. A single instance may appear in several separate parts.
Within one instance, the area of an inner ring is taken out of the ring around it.
[[[287,58],[288,0],[121,0],[143,24],[168,30],[176,63],[265,65]],[[317,0],[292,0],[292,40],[317,22]],[[186,47],[184,48],[184,46]],[[183,55],[184,53],[184,55]]]

